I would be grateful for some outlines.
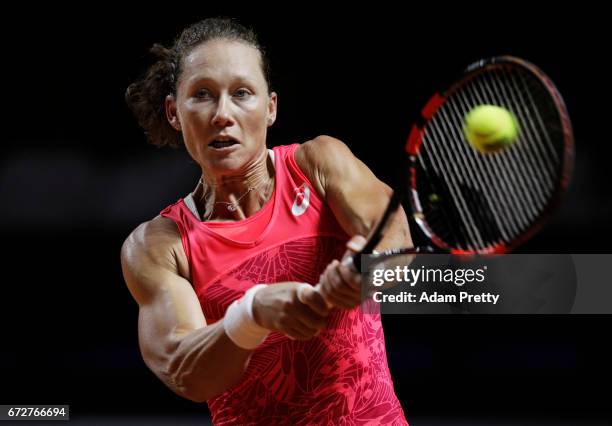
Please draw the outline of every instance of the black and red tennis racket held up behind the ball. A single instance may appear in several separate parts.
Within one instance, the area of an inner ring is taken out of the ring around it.
[[[483,153],[468,143],[464,118],[479,105],[510,111],[518,137],[507,148]],[[430,244],[395,248],[381,260],[418,252],[508,253],[550,217],[568,186],[573,165],[572,126],[553,82],[535,65],[500,56],[470,65],[422,109],[405,145],[405,179],[394,189],[364,249],[371,254],[390,218],[407,198]]]

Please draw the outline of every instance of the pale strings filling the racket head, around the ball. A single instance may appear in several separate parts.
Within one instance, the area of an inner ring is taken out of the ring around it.
[[[465,140],[463,119],[481,104],[514,114],[520,133],[512,146],[482,154]],[[469,251],[521,236],[554,196],[560,128],[548,90],[521,68],[482,72],[455,90],[428,122],[418,155],[418,193],[431,231],[447,245]]]

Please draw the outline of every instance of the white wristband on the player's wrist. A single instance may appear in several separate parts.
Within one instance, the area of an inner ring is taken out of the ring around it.
[[[242,298],[227,308],[223,317],[225,334],[243,349],[255,349],[270,333],[270,330],[258,325],[253,318],[253,298],[264,287],[265,284],[257,284],[248,289]]]

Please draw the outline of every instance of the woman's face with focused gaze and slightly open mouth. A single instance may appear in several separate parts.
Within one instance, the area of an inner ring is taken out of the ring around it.
[[[167,98],[166,112],[203,169],[232,175],[261,159],[276,119],[276,93],[268,94],[257,49],[212,40],[183,59],[176,99]]]

